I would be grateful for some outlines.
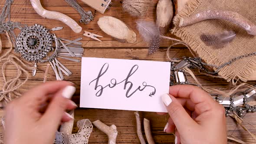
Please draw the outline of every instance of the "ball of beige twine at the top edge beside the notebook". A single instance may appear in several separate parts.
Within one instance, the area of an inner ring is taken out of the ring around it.
[[[131,16],[141,17],[148,12],[152,0],[123,0],[123,9]]]

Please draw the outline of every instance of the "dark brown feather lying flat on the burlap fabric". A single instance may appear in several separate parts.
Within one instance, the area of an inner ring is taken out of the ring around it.
[[[214,35],[202,34],[200,38],[207,46],[223,48],[236,38],[236,33],[230,30],[224,31],[223,33],[216,33]]]

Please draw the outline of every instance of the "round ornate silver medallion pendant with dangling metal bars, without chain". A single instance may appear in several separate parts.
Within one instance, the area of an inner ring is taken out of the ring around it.
[[[44,26],[35,24],[34,26],[24,27],[16,40],[16,52],[20,52],[21,57],[29,62],[35,62],[32,75],[36,75],[37,63],[49,62],[55,72],[57,80],[63,80],[62,72],[70,76],[72,72],[66,68],[59,58],[67,59],[73,62],[80,62],[79,59],[69,57],[79,57],[83,55],[82,43],[78,42],[82,38],[75,40],[57,38],[55,34],[49,31],[61,30],[62,27],[46,29]],[[64,43],[63,41],[67,43]],[[55,48],[54,48],[55,47]],[[49,52],[53,52],[48,56]]]

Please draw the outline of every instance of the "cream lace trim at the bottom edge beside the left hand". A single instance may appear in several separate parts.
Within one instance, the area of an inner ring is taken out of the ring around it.
[[[63,134],[56,132],[54,144],[88,144],[90,134],[92,132],[92,123],[89,119],[77,121],[79,128],[77,134]]]

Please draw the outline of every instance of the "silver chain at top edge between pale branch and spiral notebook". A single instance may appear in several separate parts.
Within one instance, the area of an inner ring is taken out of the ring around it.
[[[92,11],[86,12],[76,0],[65,0],[71,7],[73,7],[81,16],[80,23],[88,24],[93,20],[94,16],[92,15]]]

